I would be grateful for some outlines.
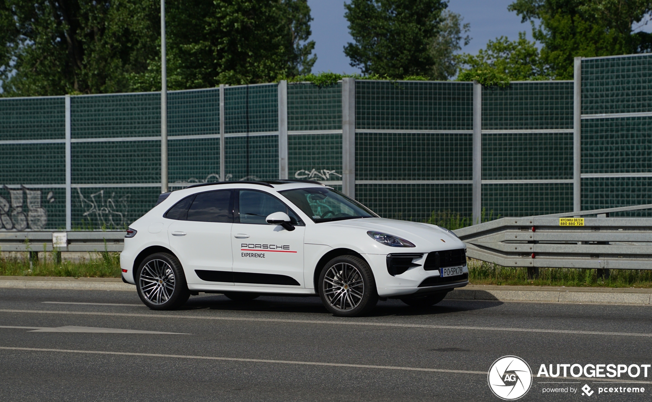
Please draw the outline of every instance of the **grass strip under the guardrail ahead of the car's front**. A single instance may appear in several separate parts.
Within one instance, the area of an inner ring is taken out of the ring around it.
[[[575,286],[652,288],[652,271],[611,269],[609,278],[598,278],[596,269],[539,268],[539,278],[527,279],[527,268],[501,267],[468,259],[469,283],[474,285]]]

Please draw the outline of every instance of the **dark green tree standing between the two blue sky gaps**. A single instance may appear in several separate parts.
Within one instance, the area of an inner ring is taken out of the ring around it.
[[[355,43],[344,47],[363,74],[406,77],[434,74],[432,47],[441,32],[442,0],[351,0],[345,18]]]

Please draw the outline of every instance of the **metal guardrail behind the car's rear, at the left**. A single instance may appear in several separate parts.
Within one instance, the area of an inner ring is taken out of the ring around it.
[[[53,233],[66,233],[67,245],[59,251],[122,251],[123,230],[107,232],[0,232],[0,251],[52,251]]]

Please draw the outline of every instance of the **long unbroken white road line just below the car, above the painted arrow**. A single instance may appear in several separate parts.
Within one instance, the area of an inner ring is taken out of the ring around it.
[[[310,320],[310,319],[278,319],[278,318],[248,318],[248,317],[201,317],[198,315],[181,314],[136,314],[136,313],[102,313],[102,312],[68,312],[58,310],[8,310],[2,309],[5,313],[37,313],[37,314],[76,314],[76,315],[112,315],[119,317],[151,317],[151,318],[185,318],[185,319],[219,319],[227,321],[262,321],[272,323],[299,323],[299,324],[327,324],[327,325],[366,325],[373,327],[401,327],[401,328],[436,328],[436,329],[463,329],[463,330],[488,330],[488,331],[512,331],[512,332],[546,332],[550,334],[580,334],[580,335],[608,335],[608,336],[643,336],[652,337],[652,334],[639,332],[602,332],[602,331],[580,331],[564,329],[539,329],[539,328],[505,328],[505,327],[470,327],[466,325],[427,325],[427,324],[399,324],[399,323],[365,323],[361,321],[334,321],[334,320]]]

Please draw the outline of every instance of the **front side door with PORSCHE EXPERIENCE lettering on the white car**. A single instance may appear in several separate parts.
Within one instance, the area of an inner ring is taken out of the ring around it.
[[[241,286],[304,287],[303,235],[299,217],[272,194],[236,190],[234,194],[233,281]],[[294,230],[267,224],[274,212],[289,215]]]

